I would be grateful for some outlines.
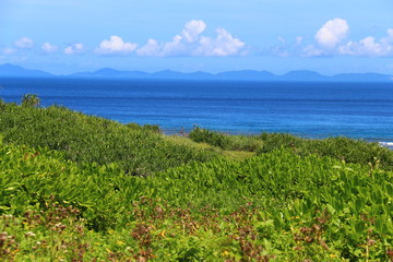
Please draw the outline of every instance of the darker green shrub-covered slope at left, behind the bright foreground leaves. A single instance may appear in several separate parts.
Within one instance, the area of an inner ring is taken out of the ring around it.
[[[75,162],[118,163],[126,172],[148,176],[191,160],[205,162],[214,153],[177,145],[160,134],[51,106],[35,108],[8,104],[0,112],[5,142],[48,146]]]

